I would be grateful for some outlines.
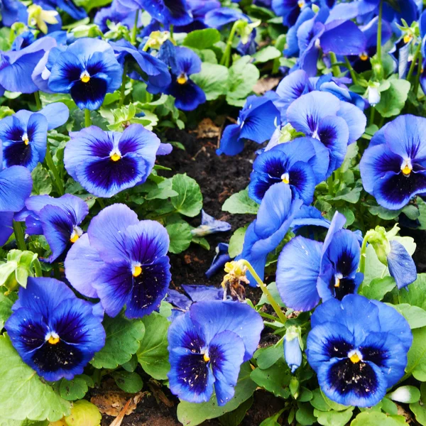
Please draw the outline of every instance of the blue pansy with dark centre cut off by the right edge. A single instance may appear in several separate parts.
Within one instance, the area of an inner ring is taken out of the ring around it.
[[[386,209],[426,192],[426,119],[399,116],[371,139],[359,164],[364,189]]]

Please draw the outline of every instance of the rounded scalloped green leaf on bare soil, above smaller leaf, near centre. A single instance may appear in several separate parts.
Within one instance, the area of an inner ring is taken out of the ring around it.
[[[202,194],[200,185],[194,179],[185,175],[174,175],[172,189],[178,192],[171,199],[176,211],[184,216],[195,217],[202,209]]]

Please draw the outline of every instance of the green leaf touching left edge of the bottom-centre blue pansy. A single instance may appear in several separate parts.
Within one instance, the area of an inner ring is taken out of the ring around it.
[[[170,370],[167,349],[170,322],[157,312],[143,317],[142,321],[146,332],[137,353],[139,364],[153,378],[165,380]]]

